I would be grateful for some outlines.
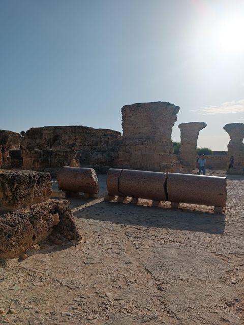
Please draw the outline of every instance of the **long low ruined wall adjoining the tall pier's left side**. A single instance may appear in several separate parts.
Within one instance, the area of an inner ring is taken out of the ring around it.
[[[112,166],[121,134],[86,126],[29,129],[22,143],[24,169]]]

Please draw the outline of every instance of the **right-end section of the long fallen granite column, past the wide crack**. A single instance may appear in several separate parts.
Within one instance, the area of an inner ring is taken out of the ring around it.
[[[168,201],[226,207],[226,177],[169,173]]]

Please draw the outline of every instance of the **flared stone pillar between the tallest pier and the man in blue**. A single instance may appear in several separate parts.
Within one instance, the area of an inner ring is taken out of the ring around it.
[[[180,159],[187,161],[192,169],[196,168],[197,139],[204,122],[181,123],[180,128]]]

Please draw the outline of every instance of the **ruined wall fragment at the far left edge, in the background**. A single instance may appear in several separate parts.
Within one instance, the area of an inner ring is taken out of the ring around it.
[[[0,130],[0,145],[2,146],[2,168],[7,168],[8,166],[11,165],[11,157],[9,156],[9,150],[20,149],[20,141],[21,141],[20,138],[21,137],[19,133]]]

